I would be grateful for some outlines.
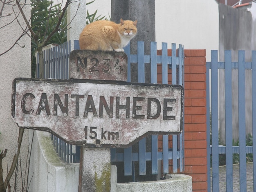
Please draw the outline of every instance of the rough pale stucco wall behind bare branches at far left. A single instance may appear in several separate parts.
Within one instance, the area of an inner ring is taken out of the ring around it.
[[[21,0],[21,3],[24,0]],[[14,4],[14,2],[12,2]],[[23,8],[25,14],[29,17],[30,5],[27,0],[27,6]],[[0,2],[0,9],[2,8],[2,2]],[[15,14],[12,8],[18,13],[16,6],[5,5],[2,15],[6,16],[12,13],[11,16],[0,18],[0,54],[7,51],[13,43],[22,34],[22,29],[18,25],[18,22],[14,20]],[[14,20],[10,25],[7,25]],[[21,17],[18,16],[20,24],[24,27],[25,22]],[[4,25],[7,25],[3,27]],[[2,27],[2,28],[1,28]],[[25,27],[24,27],[25,28]],[[18,41],[19,45],[15,45],[6,54],[0,56],[0,150],[7,149],[7,156],[3,159],[4,179],[7,174],[7,165],[10,170],[13,156],[16,152],[16,145],[18,140],[19,127],[11,120],[11,87],[12,80],[16,77],[31,77],[31,44],[29,36],[25,35]],[[28,130],[25,130],[22,148],[21,148],[21,161],[22,161],[22,172],[25,174],[25,162],[27,159],[28,151]],[[13,176],[14,178],[14,176]],[[20,179],[18,179],[17,191],[21,191]],[[11,180],[11,186],[14,188],[13,179]],[[12,188],[12,189],[13,189]]]

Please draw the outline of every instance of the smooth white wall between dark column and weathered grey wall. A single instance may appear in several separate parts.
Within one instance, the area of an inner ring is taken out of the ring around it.
[[[215,0],[156,0],[155,34],[161,42],[182,44],[184,49],[211,49],[219,46],[219,11]]]

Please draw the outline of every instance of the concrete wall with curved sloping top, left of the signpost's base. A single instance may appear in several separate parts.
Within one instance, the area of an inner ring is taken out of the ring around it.
[[[48,132],[36,131],[32,148],[29,192],[78,190],[79,163],[63,163],[54,151]]]

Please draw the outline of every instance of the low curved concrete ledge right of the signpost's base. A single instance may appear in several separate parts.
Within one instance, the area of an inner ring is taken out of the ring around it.
[[[117,183],[117,192],[192,192],[192,177],[184,174],[170,174],[171,179],[134,183]],[[167,177],[168,178],[168,177]]]

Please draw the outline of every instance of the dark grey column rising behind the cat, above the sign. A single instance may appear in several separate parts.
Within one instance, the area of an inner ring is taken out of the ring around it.
[[[131,40],[131,54],[137,54],[137,41],[145,42],[145,54],[150,54],[150,42],[155,41],[155,0],[111,0],[111,20],[138,20],[137,35]],[[145,81],[150,82],[150,67],[146,65]],[[131,79],[137,81],[137,65],[131,65]]]

